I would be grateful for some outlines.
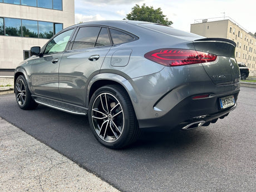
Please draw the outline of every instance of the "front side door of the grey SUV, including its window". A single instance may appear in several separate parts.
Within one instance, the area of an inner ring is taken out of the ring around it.
[[[74,29],[69,29],[49,41],[41,57],[31,65],[31,84],[36,95],[59,100],[58,70]]]

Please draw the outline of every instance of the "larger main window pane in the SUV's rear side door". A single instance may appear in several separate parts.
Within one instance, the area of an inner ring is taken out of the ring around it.
[[[81,27],[73,42],[72,50],[94,47],[100,29],[100,27]]]

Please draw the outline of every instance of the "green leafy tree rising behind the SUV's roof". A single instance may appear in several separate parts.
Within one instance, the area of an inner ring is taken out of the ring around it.
[[[168,18],[163,14],[161,8],[154,9],[152,6],[148,7],[144,3],[141,7],[136,4],[131,9],[131,13],[126,14],[126,19],[135,21],[147,21],[152,23],[160,23],[170,26],[173,24],[172,21],[168,21]]]

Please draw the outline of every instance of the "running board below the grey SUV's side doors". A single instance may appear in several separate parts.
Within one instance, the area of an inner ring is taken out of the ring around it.
[[[56,101],[56,100],[52,100],[52,99],[46,99],[46,98],[38,97],[35,95],[32,95],[32,97],[36,101],[37,104],[45,105],[45,106],[51,107],[53,109],[68,112],[70,114],[87,115],[88,109],[86,109],[85,107],[66,104],[64,102],[60,102],[60,101]]]

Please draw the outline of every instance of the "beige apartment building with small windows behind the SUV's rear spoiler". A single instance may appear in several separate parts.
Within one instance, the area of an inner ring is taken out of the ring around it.
[[[204,37],[219,37],[237,43],[235,58],[249,68],[249,76],[256,76],[256,37],[229,17],[199,19],[190,25],[190,32]]]

